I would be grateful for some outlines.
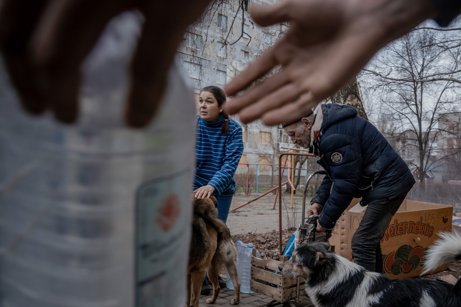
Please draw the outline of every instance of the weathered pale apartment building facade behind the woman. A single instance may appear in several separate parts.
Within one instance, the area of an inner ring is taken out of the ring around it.
[[[286,24],[259,27],[250,19],[248,9],[253,3],[275,2],[278,0],[220,0],[189,27],[178,55],[189,74],[197,100],[201,88],[224,87],[288,29]],[[238,115],[232,117],[243,128],[244,152],[237,174],[246,172],[245,163],[277,163],[279,128],[265,126],[260,121],[244,125]],[[255,170],[252,166],[252,173]],[[274,170],[273,165],[258,167],[262,175],[272,175]]]

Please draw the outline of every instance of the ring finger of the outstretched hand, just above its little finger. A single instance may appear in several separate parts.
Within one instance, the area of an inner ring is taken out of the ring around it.
[[[300,94],[301,91],[299,91],[293,83],[286,84],[274,92],[267,94],[258,102],[241,110],[240,120],[243,123],[252,122],[270,110],[293,102],[293,100],[298,98]]]

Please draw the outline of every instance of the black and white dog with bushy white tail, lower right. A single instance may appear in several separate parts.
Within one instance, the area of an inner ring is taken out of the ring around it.
[[[424,272],[461,260],[461,234],[443,232],[425,255]],[[327,250],[307,243],[279,266],[288,277],[302,277],[316,307],[461,307],[461,280],[455,286],[430,279],[390,279],[368,272]]]

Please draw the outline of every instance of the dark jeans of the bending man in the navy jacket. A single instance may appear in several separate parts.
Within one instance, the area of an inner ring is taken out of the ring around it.
[[[370,272],[383,272],[381,238],[407,194],[390,200],[378,198],[366,208],[363,219],[352,237],[351,249],[354,262]]]

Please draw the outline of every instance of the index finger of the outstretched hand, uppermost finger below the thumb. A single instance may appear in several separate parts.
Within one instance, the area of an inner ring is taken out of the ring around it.
[[[224,87],[225,93],[229,96],[234,96],[236,93],[248,87],[254,80],[264,76],[269,70],[279,64],[274,51],[279,43],[280,42],[269,48],[260,58],[249,64],[240,75],[232,79],[232,81]],[[230,112],[229,114],[235,114],[240,109],[236,105],[234,106],[232,101],[230,101],[227,110]]]

